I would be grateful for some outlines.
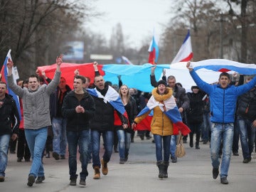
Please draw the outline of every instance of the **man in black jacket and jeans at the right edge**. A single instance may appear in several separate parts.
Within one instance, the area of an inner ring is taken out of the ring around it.
[[[247,78],[245,82],[250,82],[252,78]],[[238,97],[238,127],[240,129],[240,140],[242,146],[242,163],[247,164],[251,161],[253,144],[255,141],[256,130],[256,87],[245,92]]]

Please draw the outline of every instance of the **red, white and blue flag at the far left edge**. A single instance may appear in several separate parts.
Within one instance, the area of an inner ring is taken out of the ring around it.
[[[4,60],[4,65],[1,68],[1,81],[6,82],[7,93],[14,98],[14,100],[16,102],[17,109],[18,109],[18,114],[21,119],[21,107],[19,104],[18,96],[9,88],[8,82],[7,82],[7,74],[8,74],[7,73],[7,61],[9,58],[11,59],[11,49],[8,51],[8,53],[6,55],[6,59]],[[12,73],[14,74],[14,68],[12,68]],[[14,79],[14,83],[17,84],[16,79]]]

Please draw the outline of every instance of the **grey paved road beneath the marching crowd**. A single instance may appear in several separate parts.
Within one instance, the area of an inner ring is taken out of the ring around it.
[[[89,164],[87,186],[69,186],[68,159],[55,161],[53,157],[43,159],[46,180],[33,187],[26,186],[30,162],[16,162],[16,154],[9,154],[6,181],[0,183],[0,192],[9,191],[101,191],[101,192],[144,192],[144,191],[256,191],[256,154],[249,164],[242,164],[240,156],[232,156],[228,185],[220,184],[220,178],[212,178],[209,144],[201,144],[201,149],[186,146],[186,156],[169,166],[169,178],[160,180],[156,167],[155,147],[151,140],[141,141],[139,137],[131,145],[127,164],[119,164],[119,155],[113,154],[109,164],[109,174],[100,180],[92,179],[92,164]],[[78,165],[80,171],[80,164]]]

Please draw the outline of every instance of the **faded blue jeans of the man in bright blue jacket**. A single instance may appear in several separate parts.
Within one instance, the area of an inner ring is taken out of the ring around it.
[[[212,123],[210,137],[210,158],[213,168],[220,166],[219,150],[223,140],[223,158],[220,166],[220,178],[228,176],[230,157],[233,143],[234,124],[233,123]]]

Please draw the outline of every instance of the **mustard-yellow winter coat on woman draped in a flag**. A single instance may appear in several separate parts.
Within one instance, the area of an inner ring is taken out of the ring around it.
[[[163,102],[164,100],[168,100],[172,96],[172,90],[171,88],[167,87],[167,94],[165,95],[159,95],[159,93],[156,92],[157,87],[152,90],[152,96],[157,102]],[[159,134],[161,136],[167,136],[173,134],[173,123],[169,119],[169,117],[164,114],[164,112],[161,111],[161,109],[157,106],[153,109],[154,115],[151,120],[151,133],[152,134]],[[149,111],[150,112],[150,111]],[[146,114],[143,114],[142,116],[136,117],[134,119],[134,122],[137,124],[144,119],[149,112]]]

